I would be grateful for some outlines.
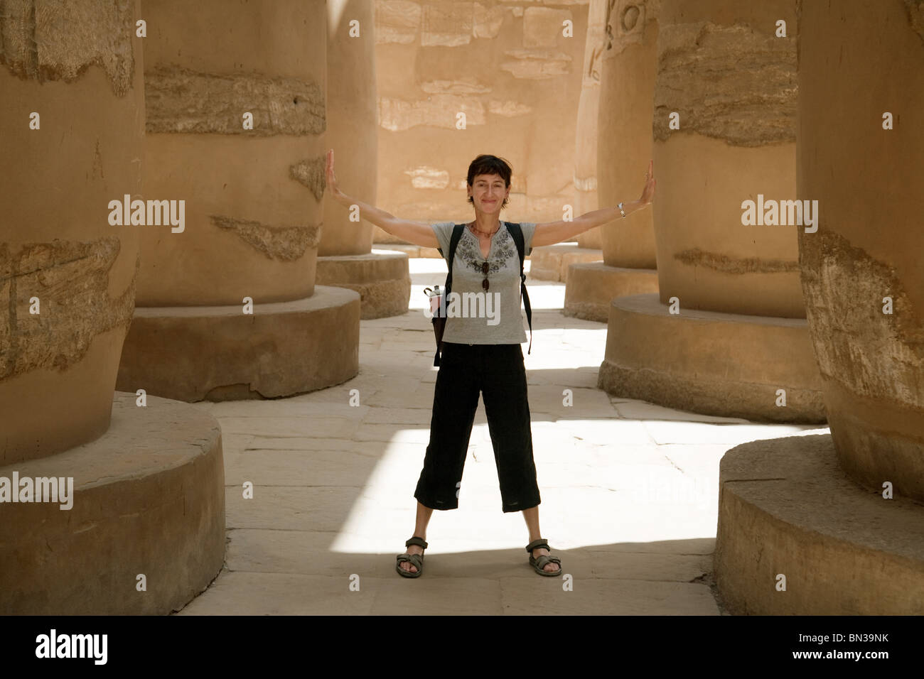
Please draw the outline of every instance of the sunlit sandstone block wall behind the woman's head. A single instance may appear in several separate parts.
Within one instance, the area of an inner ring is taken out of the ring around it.
[[[472,214],[468,164],[513,166],[503,219],[562,218],[575,204],[575,129],[588,0],[510,4],[377,0],[376,205],[432,222]],[[573,37],[565,37],[570,21]],[[457,129],[458,114],[466,129]],[[396,242],[381,230],[377,242]]]

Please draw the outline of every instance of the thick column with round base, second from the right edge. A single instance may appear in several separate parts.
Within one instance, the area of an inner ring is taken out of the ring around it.
[[[824,421],[798,277],[796,233],[809,226],[794,224],[793,205],[782,225],[763,202],[795,199],[795,10],[794,0],[663,0],[659,296],[613,302],[599,378],[612,394],[709,415]],[[744,224],[748,200],[765,224]]]

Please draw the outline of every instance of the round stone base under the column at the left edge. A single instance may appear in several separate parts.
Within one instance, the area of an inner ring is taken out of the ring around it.
[[[47,417],[54,427],[54,413]],[[0,478],[14,472],[20,485],[72,478],[73,491],[70,509],[60,497],[0,504],[6,614],[163,615],[208,587],[224,564],[221,429],[201,408],[156,396],[140,407],[135,394],[116,392],[100,438],[0,467]]]

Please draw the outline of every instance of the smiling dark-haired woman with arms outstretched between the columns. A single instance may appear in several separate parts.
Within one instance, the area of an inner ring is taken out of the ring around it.
[[[454,295],[493,294],[497,318],[453,316],[447,311],[433,395],[430,444],[414,497],[417,523],[399,554],[395,568],[401,576],[423,573],[427,525],[434,509],[456,509],[462,468],[468,451],[479,394],[483,395],[488,430],[494,448],[504,512],[523,512],[529,530],[529,564],[542,576],[562,572],[561,560],[549,554],[539,529],[539,487],[532,458],[526,370],[520,344],[526,342],[520,315],[520,262],[513,238],[500,214],[510,195],[510,165],[492,155],[480,155],[468,165],[468,202],[475,219],[466,224],[452,262]],[[625,218],[651,202],[654,162],[645,173],[641,198],[614,208],[587,212],[570,222],[523,223],[524,254],[554,245],[585,231]],[[327,188],[342,205],[358,205],[362,216],[384,231],[423,248],[440,248],[449,257],[453,224],[422,224],[398,219],[337,188],[334,151],[327,152]]]

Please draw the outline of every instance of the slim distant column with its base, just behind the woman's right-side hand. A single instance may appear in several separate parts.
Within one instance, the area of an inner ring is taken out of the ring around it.
[[[597,137],[600,207],[636,200],[644,186],[651,158],[658,9],[658,0],[606,3]],[[617,216],[600,227],[603,261],[570,265],[565,316],[605,323],[614,297],[658,291],[651,212],[649,207],[625,220]]]

